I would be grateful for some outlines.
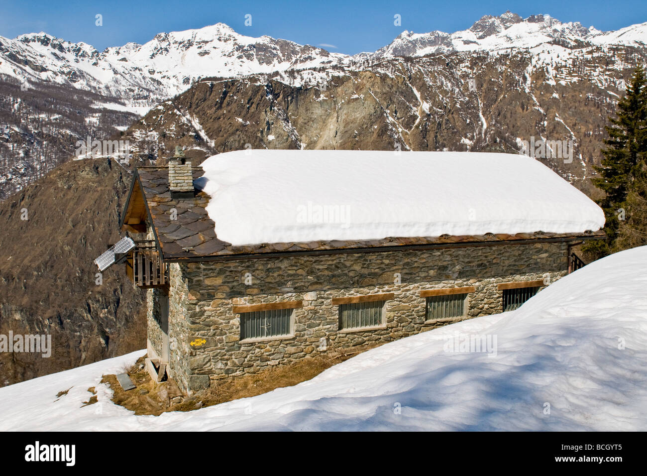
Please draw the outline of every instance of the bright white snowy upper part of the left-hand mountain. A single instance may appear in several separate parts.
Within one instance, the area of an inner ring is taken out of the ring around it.
[[[340,64],[344,58],[292,41],[244,36],[224,23],[160,33],[144,45],[127,43],[103,52],[44,32],[15,40],[0,37],[0,74],[30,82],[69,83],[127,99],[133,106],[152,105],[176,95],[200,76],[325,67]]]

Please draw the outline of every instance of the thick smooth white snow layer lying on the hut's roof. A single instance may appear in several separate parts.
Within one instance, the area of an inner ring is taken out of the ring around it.
[[[244,150],[195,180],[219,240],[233,245],[387,237],[578,234],[604,212],[525,155]]]

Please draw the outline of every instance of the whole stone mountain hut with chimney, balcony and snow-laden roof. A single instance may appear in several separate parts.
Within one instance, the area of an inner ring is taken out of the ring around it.
[[[604,213],[524,155],[245,150],[135,171],[100,269],[148,289],[151,374],[190,393],[514,310]]]

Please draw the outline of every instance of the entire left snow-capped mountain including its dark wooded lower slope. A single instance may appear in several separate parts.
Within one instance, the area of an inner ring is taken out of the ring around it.
[[[250,38],[223,23],[103,52],[45,32],[0,37],[0,199],[69,159],[76,141],[126,130],[201,76],[329,67],[342,58],[292,41]],[[50,119],[48,93],[56,96],[54,109],[63,109],[63,120]]]

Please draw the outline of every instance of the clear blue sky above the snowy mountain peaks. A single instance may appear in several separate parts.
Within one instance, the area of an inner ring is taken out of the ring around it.
[[[135,41],[146,43],[159,32],[200,28],[223,22],[247,36],[269,35],[310,45],[333,45],[329,51],[355,54],[375,51],[402,32],[470,27],[483,15],[505,10],[523,17],[547,13],[561,21],[580,21],[600,30],[647,21],[647,1],[236,1],[169,0],[56,1],[0,0],[0,36],[45,31],[69,41],[85,41],[103,50]],[[96,14],[103,26],[95,25]],[[245,15],[252,25],[245,26]],[[402,25],[393,25],[393,16]],[[336,47],[336,48],[335,48]]]

